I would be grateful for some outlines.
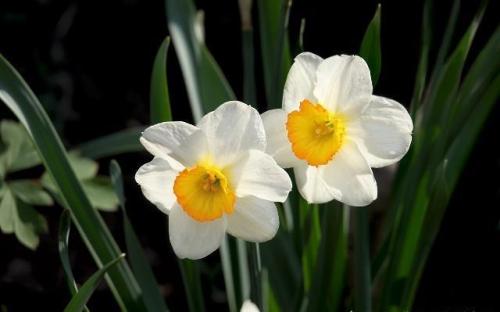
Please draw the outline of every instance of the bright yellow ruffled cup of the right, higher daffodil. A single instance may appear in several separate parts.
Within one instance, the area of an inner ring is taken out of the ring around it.
[[[299,110],[288,114],[286,129],[297,158],[311,166],[324,165],[342,146],[345,117],[329,112],[321,104],[303,100]]]

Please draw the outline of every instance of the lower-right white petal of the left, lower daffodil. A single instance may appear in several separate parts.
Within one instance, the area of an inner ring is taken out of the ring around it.
[[[253,196],[238,198],[233,213],[227,215],[227,232],[251,242],[270,240],[279,225],[276,205]]]

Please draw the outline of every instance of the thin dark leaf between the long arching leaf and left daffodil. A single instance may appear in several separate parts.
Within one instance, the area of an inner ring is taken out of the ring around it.
[[[135,234],[134,228],[127,211],[125,210],[125,193],[123,190],[123,178],[120,165],[112,160],[109,166],[111,180],[113,182],[116,197],[119,200],[123,212],[123,231],[125,233],[125,244],[129,255],[130,266],[134,272],[137,282],[144,294],[144,302],[148,311],[165,312],[168,308],[160,294],[158,283],[151,269],[151,266],[144,255],[139,238]]]

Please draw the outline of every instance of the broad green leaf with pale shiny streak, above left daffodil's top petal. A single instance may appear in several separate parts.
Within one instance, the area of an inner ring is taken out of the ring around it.
[[[235,99],[229,83],[208,49],[196,35],[192,1],[166,0],[168,29],[172,37],[196,121],[225,101]]]

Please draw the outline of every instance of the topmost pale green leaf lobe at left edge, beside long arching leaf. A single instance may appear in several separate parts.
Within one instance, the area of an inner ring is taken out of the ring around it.
[[[3,161],[7,172],[31,168],[42,163],[29,134],[20,123],[3,120],[0,122],[0,134],[6,145]]]

